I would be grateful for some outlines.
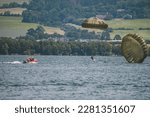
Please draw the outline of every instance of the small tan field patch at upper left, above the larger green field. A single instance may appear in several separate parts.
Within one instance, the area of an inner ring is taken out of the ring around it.
[[[22,12],[26,10],[25,8],[3,8],[0,9],[0,13],[4,13],[6,11],[10,11],[10,14],[22,14]]]

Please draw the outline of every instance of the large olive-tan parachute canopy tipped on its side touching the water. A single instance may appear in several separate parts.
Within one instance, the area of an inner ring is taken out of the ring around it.
[[[121,49],[129,63],[142,63],[148,53],[148,47],[145,41],[137,34],[127,34],[124,36]]]

